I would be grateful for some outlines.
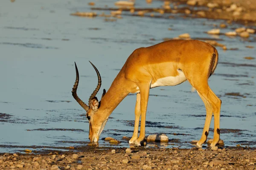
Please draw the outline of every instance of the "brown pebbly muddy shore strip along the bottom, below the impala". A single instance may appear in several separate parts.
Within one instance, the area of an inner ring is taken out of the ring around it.
[[[0,169],[248,169],[256,167],[256,148],[204,149],[83,147],[69,151],[1,153]],[[79,152],[77,152],[79,151]]]

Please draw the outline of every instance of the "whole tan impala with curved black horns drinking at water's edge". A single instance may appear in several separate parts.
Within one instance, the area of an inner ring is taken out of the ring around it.
[[[204,130],[196,145],[202,147],[206,142],[213,113],[214,136],[211,147],[218,148],[215,145],[220,139],[221,100],[208,85],[208,78],[213,74],[217,63],[218,51],[212,45],[198,40],[169,40],[150,47],[138,48],[128,57],[108,92],[103,90],[101,101],[96,97],[101,86],[101,77],[97,68],[91,63],[98,76],[98,85],[89,98],[89,105],[86,105],[76,94],[79,72],[75,63],[76,82],[72,95],[87,112],[90,141],[99,141],[108,117],[122,99],[129,93],[137,93],[134,133],[129,143],[141,146],[145,138],[149,89],[179,85],[188,80],[197,90],[206,108]],[[140,136],[138,137],[139,122]]]

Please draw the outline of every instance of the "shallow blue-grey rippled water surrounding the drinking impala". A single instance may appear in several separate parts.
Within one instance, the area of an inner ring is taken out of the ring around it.
[[[244,59],[256,57],[255,35],[248,40],[210,36],[205,31],[224,21],[183,18],[179,14],[164,14],[166,18],[174,16],[165,19],[135,17],[123,12],[127,15],[115,22],[106,22],[104,17],[70,16],[76,11],[90,11],[88,2],[1,2],[0,152],[86,146],[89,143],[88,121],[85,111],[71,95],[75,81],[74,61],[80,73],[78,95],[87,101],[97,83],[88,60],[102,75],[101,96],[103,88],[110,87],[132,51],[183,33],[189,33],[192,38],[221,39],[223,41],[219,42],[227,48],[238,48],[236,51],[217,48],[219,64],[209,85],[222,100],[221,139],[225,145],[256,147],[256,59]],[[114,2],[96,1],[96,6],[114,7]],[[146,5],[145,1],[137,3],[137,7],[161,5],[158,1],[151,5]],[[233,24],[221,31],[233,31],[237,27],[241,25]],[[246,48],[247,45],[254,48]],[[169,145],[158,146],[190,148],[189,142],[200,139],[205,108],[198,94],[190,92],[190,88],[191,85],[184,82],[174,87],[151,89],[146,134],[166,133],[172,139]],[[110,136],[122,143],[111,145],[100,140],[99,146],[129,147],[122,136],[132,136],[135,101],[136,95],[127,96],[113,111],[100,136]],[[210,132],[209,138],[212,136]]]

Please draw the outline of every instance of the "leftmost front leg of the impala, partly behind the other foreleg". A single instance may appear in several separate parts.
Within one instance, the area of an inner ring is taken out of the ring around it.
[[[129,141],[130,144],[134,144],[135,140],[138,139],[139,122],[140,122],[140,94],[137,93],[137,99],[136,99],[136,105],[135,105],[134,133]]]

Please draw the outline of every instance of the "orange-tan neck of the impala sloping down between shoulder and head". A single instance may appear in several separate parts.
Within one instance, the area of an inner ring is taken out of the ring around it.
[[[104,116],[110,116],[112,111],[130,93],[127,87],[129,82],[122,71],[116,76],[105,96],[101,99],[99,110]]]

